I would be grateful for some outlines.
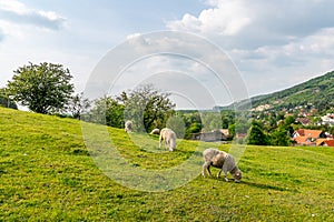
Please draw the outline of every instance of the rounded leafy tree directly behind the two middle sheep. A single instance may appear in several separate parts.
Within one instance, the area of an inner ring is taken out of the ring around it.
[[[134,122],[134,130],[150,132],[164,128],[174,113],[175,103],[169,93],[159,92],[153,84],[140,85],[132,90],[125,100],[125,118]]]

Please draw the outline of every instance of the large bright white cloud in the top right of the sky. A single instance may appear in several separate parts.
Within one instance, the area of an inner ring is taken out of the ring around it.
[[[185,13],[166,27],[209,37],[225,49],[286,44],[334,27],[331,0],[208,0],[207,4],[198,16]]]

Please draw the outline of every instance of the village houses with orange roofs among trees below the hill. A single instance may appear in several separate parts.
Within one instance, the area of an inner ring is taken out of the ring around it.
[[[287,133],[289,145],[334,147],[334,113],[328,112],[324,115],[320,113],[318,109],[312,104],[283,108],[281,111],[273,109],[269,104],[252,109],[253,118],[262,123],[261,127],[267,134],[273,132],[273,129],[284,125],[286,119],[292,119],[293,122],[288,124],[289,132]],[[230,129],[215,129],[191,133],[189,139],[228,143],[227,141],[232,139],[247,141],[247,137],[249,137],[249,131],[234,133]]]

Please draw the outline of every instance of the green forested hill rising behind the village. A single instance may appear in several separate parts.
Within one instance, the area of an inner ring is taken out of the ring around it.
[[[320,111],[334,107],[334,71],[274,93],[252,98],[252,107],[269,110],[312,105]]]

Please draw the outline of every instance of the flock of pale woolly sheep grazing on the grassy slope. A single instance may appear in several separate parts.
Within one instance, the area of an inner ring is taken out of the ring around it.
[[[125,131],[131,132],[132,131],[132,122],[127,121],[125,123]],[[176,148],[176,134],[173,130],[168,128],[161,129],[154,129],[150,134],[159,134],[159,148],[161,147],[161,142],[165,141],[165,148],[169,149],[169,151],[174,151]],[[243,173],[236,165],[236,162],[229,153],[226,153],[224,151],[219,151],[217,149],[206,149],[203,152],[204,158],[204,164],[203,164],[203,171],[202,175],[205,176],[205,172],[207,171],[208,174],[212,176],[210,167],[218,168],[220,171],[217,174],[217,178],[220,176],[220,173],[224,172],[225,174],[225,181],[227,182],[227,172],[229,172],[235,182],[239,182],[242,180]]]

